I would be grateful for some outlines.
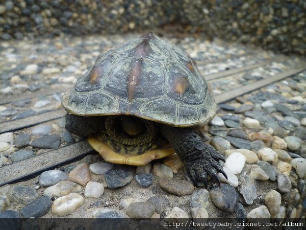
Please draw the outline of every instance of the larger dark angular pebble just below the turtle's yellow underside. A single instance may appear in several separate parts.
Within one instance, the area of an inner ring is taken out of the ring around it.
[[[108,188],[116,189],[127,185],[132,181],[133,174],[134,167],[115,165],[105,173],[105,180]]]

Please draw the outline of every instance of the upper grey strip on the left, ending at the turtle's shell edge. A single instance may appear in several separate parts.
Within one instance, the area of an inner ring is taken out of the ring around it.
[[[62,118],[66,114],[64,109],[57,109],[34,115],[32,117],[22,118],[14,121],[0,123],[0,133],[11,132],[22,128],[27,128],[43,122],[52,121],[54,119]]]

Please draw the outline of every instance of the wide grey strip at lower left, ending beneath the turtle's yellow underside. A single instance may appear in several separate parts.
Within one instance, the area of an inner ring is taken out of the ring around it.
[[[0,168],[0,186],[31,179],[44,171],[58,168],[71,161],[93,153],[87,141],[83,140],[63,148],[54,149],[32,158],[21,160]]]

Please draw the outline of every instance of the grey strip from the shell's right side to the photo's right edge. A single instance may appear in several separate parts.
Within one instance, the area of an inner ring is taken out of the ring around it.
[[[220,94],[220,95],[217,95],[217,96],[214,96],[214,97],[215,97],[215,100],[218,104],[219,103],[224,103],[224,102],[227,102],[227,101],[231,101],[238,96],[242,96],[244,94],[250,93],[251,91],[257,90],[257,89],[259,89],[263,86],[266,86],[268,84],[271,84],[273,82],[280,81],[284,78],[287,78],[287,77],[290,77],[292,75],[298,74],[305,69],[306,69],[306,66],[295,68],[294,70],[286,71],[286,72],[283,72],[281,74],[277,74],[277,75],[274,75],[272,77],[253,82],[251,84],[232,89],[230,91],[227,91],[223,94]]]

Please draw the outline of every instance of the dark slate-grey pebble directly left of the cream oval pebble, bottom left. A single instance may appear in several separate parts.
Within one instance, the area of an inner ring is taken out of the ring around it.
[[[49,196],[42,196],[25,205],[21,210],[23,218],[41,217],[47,214],[52,206],[52,200]]]

